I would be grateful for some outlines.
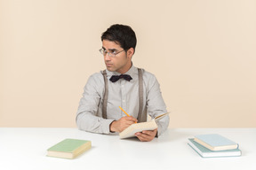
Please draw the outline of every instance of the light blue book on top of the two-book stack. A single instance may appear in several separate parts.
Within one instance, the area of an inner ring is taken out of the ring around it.
[[[218,134],[195,135],[194,140],[211,151],[238,149],[238,143]]]

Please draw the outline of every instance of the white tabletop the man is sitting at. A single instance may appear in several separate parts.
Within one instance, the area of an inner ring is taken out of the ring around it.
[[[240,144],[242,157],[201,158],[188,137],[218,133]],[[65,138],[92,141],[76,159],[46,157],[46,150]],[[170,128],[148,143],[120,140],[76,128],[0,128],[0,169],[256,169],[256,128]]]

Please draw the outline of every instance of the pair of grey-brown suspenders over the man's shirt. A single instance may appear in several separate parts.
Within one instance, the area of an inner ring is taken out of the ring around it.
[[[139,107],[139,114],[138,114],[138,122],[143,122],[147,120],[147,113],[142,113],[143,109],[143,76],[142,71],[140,68],[138,68],[139,73],[139,101],[140,101],[140,107]],[[107,103],[108,103],[108,79],[107,79],[107,73],[106,70],[103,71],[103,77],[105,82],[105,92],[103,95],[103,105],[102,105],[102,117],[104,119],[107,119]]]

